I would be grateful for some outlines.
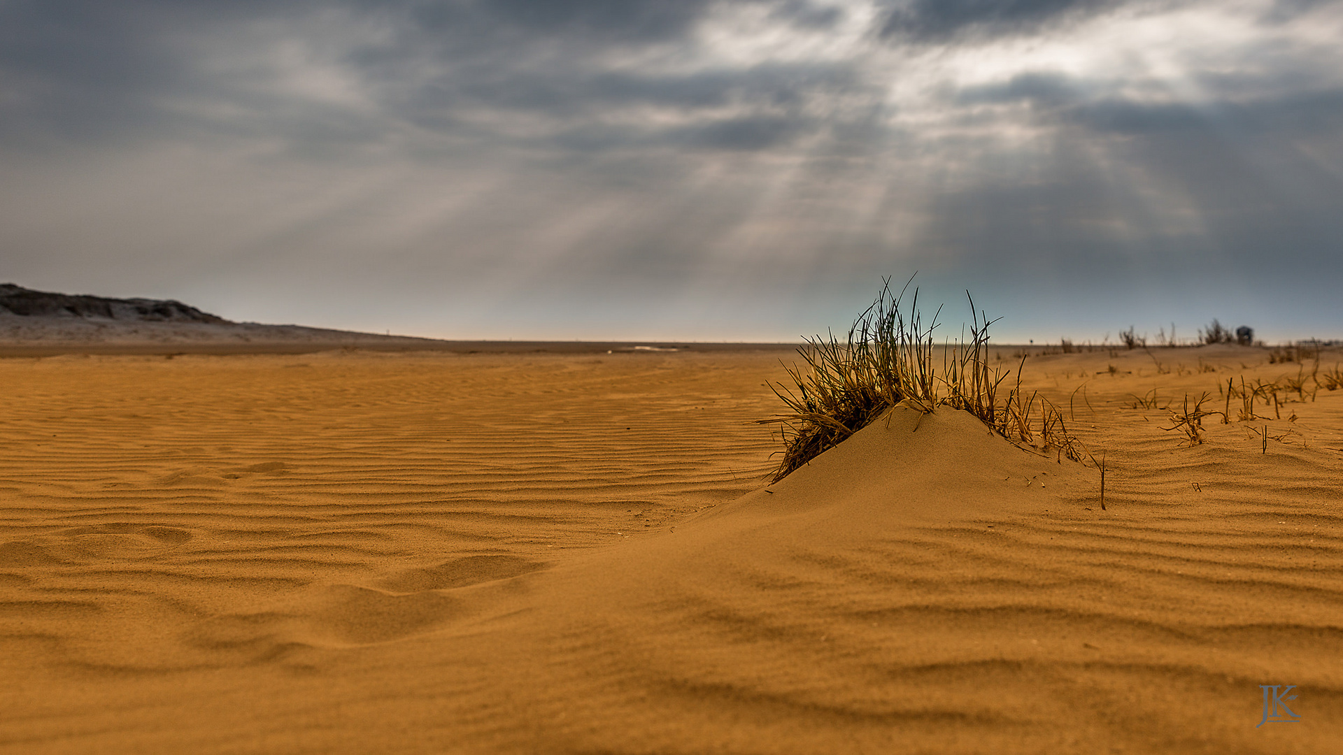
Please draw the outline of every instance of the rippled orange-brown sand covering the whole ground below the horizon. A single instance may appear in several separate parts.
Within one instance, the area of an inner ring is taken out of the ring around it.
[[[1343,752],[1343,391],[1131,408],[1268,353],[1029,359],[1105,510],[950,410],[767,488],[776,351],[4,359],[0,750]]]

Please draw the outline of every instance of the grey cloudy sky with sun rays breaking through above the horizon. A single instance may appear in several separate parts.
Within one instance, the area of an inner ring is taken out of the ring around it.
[[[0,0],[0,282],[450,339],[1343,337],[1343,3]]]

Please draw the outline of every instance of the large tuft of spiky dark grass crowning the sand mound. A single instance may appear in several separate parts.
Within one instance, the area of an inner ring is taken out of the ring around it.
[[[936,360],[933,330],[941,308],[925,328],[915,289],[905,313],[901,302],[909,282],[894,294],[885,278],[877,300],[854,320],[843,341],[834,333],[807,339],[798,349],[804,365],[784,365],[792,386],[770,386],[787,407],[784,414],[757,420],[778,425],[784,446],[772,481],[783,480],[900,403],[925,414],[939,406],[964,410],[1010,441],[1054,450],[1060,459],[1066,455],[1082,461],[1086,451],[1068,433],[1062,412],[1044,396],[1027,398],[1022,391],[1025,356],[1015,386],[1005,386],[1011,371],[988,365],[988,326],[997,320],[975,310],[970,292],[970,337],[966,340],[963,332],[960,340],[944,344]],[[940,371],[936,361],[941,361]]]

